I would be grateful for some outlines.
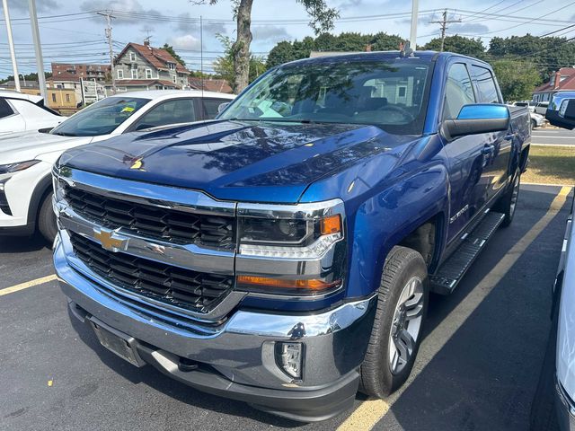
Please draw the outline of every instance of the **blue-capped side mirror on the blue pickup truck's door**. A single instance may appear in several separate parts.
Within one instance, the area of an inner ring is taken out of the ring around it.
[[[509,129],[509,109],[496,103],[464,105],[456,119],[446,119],[441,133],[447,141],[457,136],[500,132]]]

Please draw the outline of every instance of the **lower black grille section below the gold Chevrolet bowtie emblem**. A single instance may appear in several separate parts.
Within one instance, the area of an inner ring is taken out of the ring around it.
[[[234,277],[208,274],[111,252],[77,233],[70,233],[75,256],[111,283],[155,301],[208,312],[228,295]]]

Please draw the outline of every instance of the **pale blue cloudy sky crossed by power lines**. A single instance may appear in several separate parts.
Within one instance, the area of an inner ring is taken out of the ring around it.
[[[394,0],[327,0],[340,9],[341,21],[335,33],[385,31],[409,38],[411,2]],[[204,20],[204,68],[221,53],[216,35],[234,38],[231,0],[219,0],[216,5],[197,5],[188,0],[36,0],[40,17],[40,37],[45,68],[51,61],[106,63],[107,45],[104,39],[105,21],[93,11],[112,10],[119,15],[113,21],[114,50],[135,41],[142,43],[151,37],[152,45],[170,43],[184,57],[190,68],[199,69],[199,25]],[[21,72],[36,70],[31,45],[31,28],[27,20],[28,0],[8,0],[13,20],[13,37]],[[543,35],[557,31],[575,20],[575,2],[568,0],[420,0],[418,43],[439,34],[437,21],[444,8],[450,9],[447,34],[482,37],[485,45],[493,36]],[[554,12],[556,11],[556,12]],[[475,13],[493,13],[493,16]],[[79,13],[68,16],[54,16]],[[402,14],[403,13],[403,14]],[[354,19],[353,17],[358,17]],[[520,18],[514,18],[520,17]],[[252,10],[252,51],[265,56],[280,40],[301,40],[313,36],[306,24],[304,7],[295,0],[254,0]],[[545,21],[544,21],[545,20]],[[553,35],[575,36],[575,28]],[[0,21],[0,77],[11,75],[4,20]]]

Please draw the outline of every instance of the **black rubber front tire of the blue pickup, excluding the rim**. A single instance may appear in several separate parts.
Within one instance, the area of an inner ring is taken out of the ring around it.
[[[394,326],[394,314],[403,290],[414,278],[422,287],[420,325],[413,343],[412,354],[399,372],[392,372],[390,342]],[[364,362],[360,367],[359,391],[375,398],[384,398],[399,388],[411,373],[420,347],[421,330],[429,302],[428,270],[425,261],[417,251],[406,247],[394,247],[385,259],[379,287],[376,319],[367,346]]]

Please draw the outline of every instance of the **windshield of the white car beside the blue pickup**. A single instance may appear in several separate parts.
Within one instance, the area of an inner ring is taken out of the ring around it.
[[[109,97],[79,111],[50,133],[60,136],[108,135],[148,101],[134,97]]]

